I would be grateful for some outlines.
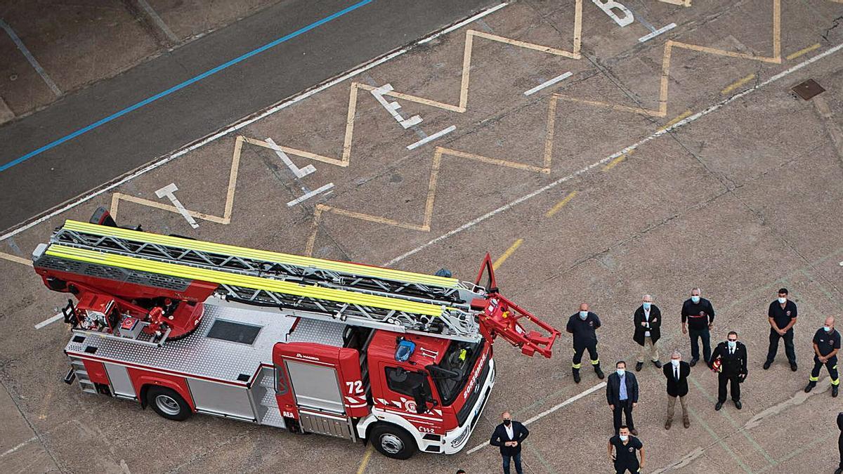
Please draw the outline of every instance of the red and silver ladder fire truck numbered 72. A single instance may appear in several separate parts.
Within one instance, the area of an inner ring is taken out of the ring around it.
[[[100,208],[56,229],[33,266],[73,296],[67,384],[170,420],[207,413],[396,459],[464,448],[496,337],[550,358],[560,334],[500,294],[488,254],[461,282],[153,234]]]

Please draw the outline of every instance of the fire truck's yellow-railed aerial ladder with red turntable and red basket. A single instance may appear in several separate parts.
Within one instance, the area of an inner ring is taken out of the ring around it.
[[[475,283],[460,282],[126,229],[99,210],[90,223],[67,220],[33,260],[49,288],[77,296],[64,310],[74,331],[144,344],[190,334],[211,295],[352,326],[466,342],[501,336],[527,355],[550,357],[560,334],[498,293],[488,255]]]

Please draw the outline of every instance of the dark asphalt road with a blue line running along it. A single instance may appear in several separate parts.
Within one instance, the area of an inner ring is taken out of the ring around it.
[[[0,127],[3,164],[355,4],[279,3]],[[374,1],[0,172],[8,229],[158,156],[497,3]]]

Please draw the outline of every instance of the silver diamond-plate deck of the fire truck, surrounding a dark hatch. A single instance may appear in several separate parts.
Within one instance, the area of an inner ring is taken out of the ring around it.
[[[207,337],[217,319],[261,326],[251,345]],[[199,327],[190,336],[167,341],[162,347],[150,347],[119,339],[88,336],[83,342],[67,343],[65,351],[81,357],[91,355],[116,363],[137,364],[149,369],[162,369],[180,374],[226,380],[239,385],[239,374],[250,378],[260,364],[272,364],[272,347],[284,342],[297,318],[293,315],[229,307],[224,302],[209,300]],[[86,347],[97,347],[96,353],[86,354]]]

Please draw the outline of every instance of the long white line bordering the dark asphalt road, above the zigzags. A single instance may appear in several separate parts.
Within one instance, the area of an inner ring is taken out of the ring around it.
[[[46,213],[46,214],[40,216],[39,218],[35,218],[35,219],[31,220],[30,222],[24,221],[24,224],[20,225],[18,228],[11,229],[7,233],[5,233],[3,235],[0,235],[0,241],[6,240],[9,237],[13,237],[14,235],[20,234],[21,232],[24,232],[25,230],[31,229],[38,224],[41,224],[41,223],[46,222],[47,220],[49,220],[51,218],[56,217],[56,215],[58,215],[58,214],[64,213],[64,212],[66,212],[66,211],[68,211],[68,210],[70,210],[74,207],[79,206],[80,204],[83,204],[84,202],[88,202],[88,201],[94,199],[94,197],[98,197],[102,194],[105,194],[108,191],[111,191],[112,189],[115,189],[118,186],[121,186],[121,185],[123,185],[123,184],[125,184],[125,183],[127,183],[131,180],[134,180],[135,178],[137,178],[137,176],[145,175],[149,171],[155,170],[158,167],[163,166],[164,164],[168,164],[170,161],[178,159],[185,154],[189,154],[193,150],[195,150],[196,148],[201,148],[201,147],[207,145],[208,143],[212,143],[212,142],[218,140],[221,137],[225,137],[226,135],[228,135],[231,132],[236,132],[237,130],[239,130],[241,128],[248,127],[252,123],[254,123],[255,121],[260,121],[260,120],[266,118],[267,116],[271,116],[272,114],[275,114],[279,110],[286,109],[287,107],[289,107],[291,105],[295,105],[302,100],[308,99],[309,97],[311,97],[315,94],[318,94],[319,92],[322,92],[325,89],[329,89],[330,87],[335,86],[338,83],[345,82],[346,79],[353,78],[353,77],[355,77],[355,76],[357,76],[361,73],[365,73],[366,71],[368,71],[369,69],[372,69],[373,67],[378,67],[379,65],[383,64],[384,62],[389,62],[390,60],[395,59],[395,57],[400,57],[400,56],[404,55],[405,53],[407,53],[408,51],[411,51],[412,49],[416,48],[416,46],[423,45],[423,44],[425,44],[429,41],[435,40],[439,36],[447,35],[448,33],[452,32],[454,30],[458,30],[459,28],[462,28],[466,24],[470,24],[471,22],[474,22],[477,19],[481,19],[481,18],[485,17],[486,15],[489,15],[491,13],[495,13],[498,10],[500,10],[501,8],[506,7],[507,5],[509,5],[509,2],[499,3],[499,4],[495,5],[494,7],[486,8],[485,10],[482,10],[479,13],[475,13],[474,15],[470,16],[469,18],[464,19],[462,21],[459,21],[458,23],[453,24],[451,26],[448,26],[447,28],[445,28],[443,30],[436,31],[436,32],[432,33],[431,35],[427,35],[427,37],[422,38],[421,40],[417,40],[415,43],[412,43],[408,46],[404,46],[404,47],[402,47],[398,50],[391,51],[391,52],[385,54],[382,57],[374,59],[372,62],[368,62],[367,64],[364,64],[361,67],[357,67],[356,69],[352,69],[352,71],[349,71],[348,73],[344,73],[341,76],[338,76],[336,78],[332,78],[325,83],[319,84],[318,86],[314,87],[314,89],[306,90],[306,91],[304,91],[300,94],[296,94],[296,95],[293,95],[292,97],[290,97],[288,99],[282,100],[277,105],[272,105],[271,107],[261,111],[260,113],[254,115],[254,116],[248,116],[241,121],[235,122],[230,127],[226,127],[222,130],[219,130],[217,132],[212,133],[211,135],[209,135],[207,137],[203,137],[203,138],[197,140],[194,143],[191,143],[191,144],[189,144],[189,145],[187,145],[183,148],[180,148],[179,150],[175,151],[172,154],[165,155],[163,158],[158,159],[158,161],[154,161],[153,163],[150,163],[150,164],[147,164],[146,166],[143,166],[139,170],[133,171],[133,172],[131,172],[127,175],[124,175],[124,176],[122,176],[122,177],[120,177],[116,180],[113,180],[110,183],[106,184],[105,186],[99,188],[98,190],[91,191],[91,192],[89,192],[89,194],[87,194],[83,197],[79,197],[77,200],[75,200],[73,202],[69,202],[62,207],[58,207],[58,208],[54,209],[52,212]],[[575,44],[578,44],[578,37],[576,38]],[[196,216],[194,216],[194,217],[196,217]]]

